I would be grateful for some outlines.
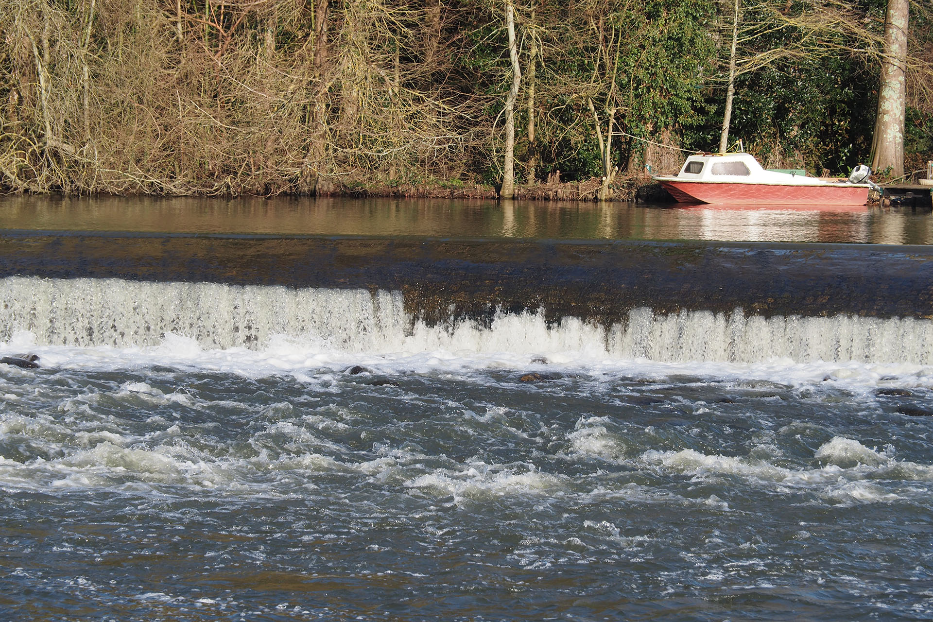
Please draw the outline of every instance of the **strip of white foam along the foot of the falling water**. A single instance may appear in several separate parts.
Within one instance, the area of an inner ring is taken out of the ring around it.
[[[350,366],[363,366],[376,374],[385,376],[419,373],[430,375],[452,375],[458,377],[482,370],[504,370],[553,372],[564,371],[571,375],[585,374],[593,378],[638,377],[652,381],[689,376],[714,381],[763,380],[788,387],[837,386],[847,391],[864,394],[873,399],[871,391],[876,387],[907,389],[933,389],[933,367],[915,364],[875,364],[847,362],[794,363],[790,360],[765,361],[758,363],[729,363],[692,361],[682,363],[651,361],[648,359],[615,358],[605,352],[346,352],[333,349],[313,349],[307,344],[299,345],[293,340],[273,340],[269,348],[251,350],[242,347],[229,349],[188,348],[190,341],[181,351],[173,349],[177,343],[173,336],[165,342],[148,347],[94,346],[77,347],[41,345],[29,349],[37,354],[42,366],[52,369],[97,369],[134,370],[151,366],[163,366],[183,371],[212,371],[229,373],[247,378],[264,378],[275,375],[291,375],[301,382],[314,383],[322,392],[338,391],[337,384],[343,372]],[[0,343],[0,356],[11,356],[23,352],[22,348],[9,343]],[[546,363],[538,362],[543,357]],[[7,378],[30,378],[31,369],[6,366]],[[516,376],[516,378],[518,378]],[[529,385],[533,386],[533,385]],[[8,391],[8,389],[7,389]],[[132,393],[132,392],[128,392]],[[147,394],[136,393],[145,397]],[[184,392],[174,394],[148,394],[153,403],[159,399],[184,402]],[[17,400],[20,396],[9,393],[5,399]],[[92,401],[94,395],[82,398]],[[71,400],[71,407],[63,403],[62,408],[78,408]],[[578,442],[592,435],[593,442],[601,440],[594,433],[581,433]],[[606,448],[611,452],[611,449]]]

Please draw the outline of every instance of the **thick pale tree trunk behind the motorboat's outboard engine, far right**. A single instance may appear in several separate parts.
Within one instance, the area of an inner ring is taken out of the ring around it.
[[[907,21],[910,0],[888,0],[884,20],[884,58],[881,63],[881,88],[878,112],[871,143],[871,168],[890,169],[890,174],[904,174],[904,117],[907,104]]]

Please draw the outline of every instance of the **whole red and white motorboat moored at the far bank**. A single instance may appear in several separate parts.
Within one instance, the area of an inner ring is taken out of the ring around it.
[[[674,175],[653,177],[678,202],[718,205],[864,205],[878,187],[858,165],[848,179],[767,171],[747,153],[690,156]]]

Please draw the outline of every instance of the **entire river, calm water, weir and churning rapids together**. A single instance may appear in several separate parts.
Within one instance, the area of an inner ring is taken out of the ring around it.
[[[0,214],[0,619],[933,617],[928,212]]]

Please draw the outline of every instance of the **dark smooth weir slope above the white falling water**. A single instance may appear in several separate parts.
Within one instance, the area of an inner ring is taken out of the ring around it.
[[[7,233],[0,254],[4,275],[398,290],[428,322],[543,310],[607,324],[638,307],[933,314],[926,247]]]

